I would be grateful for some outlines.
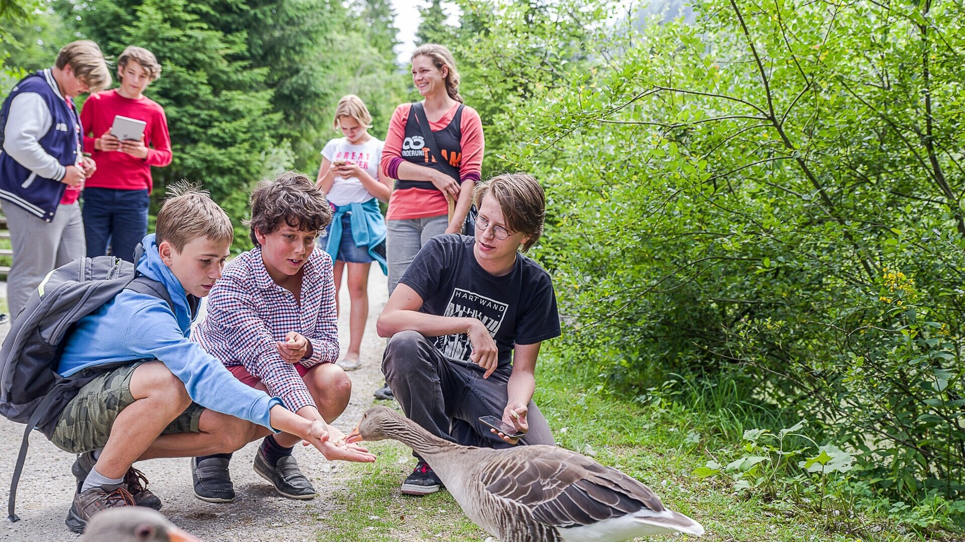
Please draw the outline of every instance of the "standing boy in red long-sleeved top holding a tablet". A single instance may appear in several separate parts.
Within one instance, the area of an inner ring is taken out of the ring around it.
[[[111,254],[131,261],[148,233],[151,167],[171,163],[171,139],[164,109],[144,95],[161,74],[148,49],[130,46],[118,59],[117,89],[91,95],[80,119],[84,151],[94,154],[98,169],[84,186],[83,218],[87,256]],[[147,122],[140,141],[121,141],[111,134],[118,115]]]

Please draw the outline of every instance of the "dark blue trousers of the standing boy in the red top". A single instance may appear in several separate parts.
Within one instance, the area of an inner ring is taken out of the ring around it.
[[[104,256],[110,246],[113,256],[133,261],[134,249],[148,234],[148,190],[85,188],[83,199],[87,256]]]

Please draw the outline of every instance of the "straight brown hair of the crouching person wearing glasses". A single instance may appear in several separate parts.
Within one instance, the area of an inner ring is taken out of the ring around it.
[[[523,244],[523,252],[530,250],[542,235],[546,216],[546,196],[537,179],[524,173],[494,176],[476,185],[473,203],[480,207],[486,194],[499,202],[506,226],[529,237]]]

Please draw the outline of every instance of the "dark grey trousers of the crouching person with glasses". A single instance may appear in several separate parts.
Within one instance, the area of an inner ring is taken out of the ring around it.
[[[499,367],[483,379],[482,367],[449,361],[422,334],[403,331],[389,339],[382,372],[405,416],[429,433],[463,446],[511,446],[479,418],[503,417],[512,366]],[[530,428],[520,444],[554,446],[536,403],[530,401],[528,409]]]

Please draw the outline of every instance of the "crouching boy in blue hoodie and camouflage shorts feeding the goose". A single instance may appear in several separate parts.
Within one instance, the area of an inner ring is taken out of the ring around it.
[[[157,457],[231,452],[284,431],[328,459],[374,461],[363,447],[328,440],[324,421],[286,410],[282,400],[245,386],[188,339],[201,297],[221,277],[233,230],[225,211],[196,188],[173,191],[147,235],[137,270],[168,289],[175,305],[124,290],[82,318],[58,366],[69,376],[111,364],[61,413],[51,441],[79,453],[68,527],[81,532],[96,512],[125,505],[159,509],[131,465]],[[122,366],[118,363],[129,362]]]

